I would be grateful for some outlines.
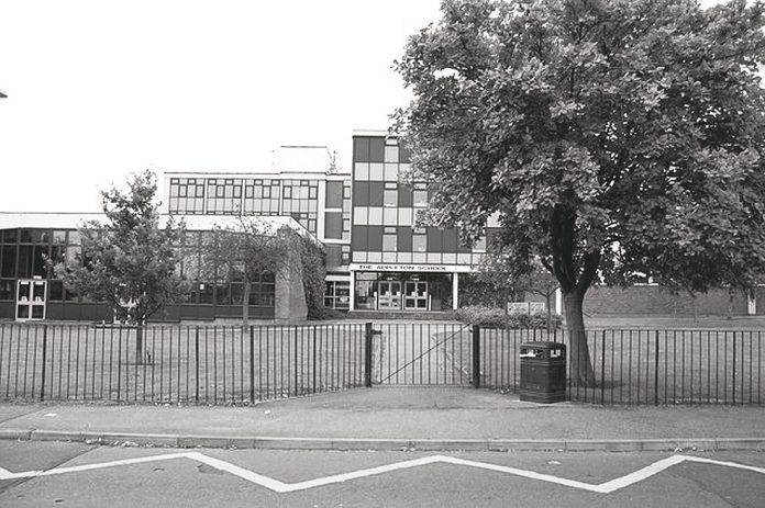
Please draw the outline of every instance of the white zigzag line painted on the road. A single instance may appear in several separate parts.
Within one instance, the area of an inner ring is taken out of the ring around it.
[[[380,475],[380,474],[386,474],[386,473],[390,473],[393,471],[401,471],[401,470],[407,470],[407,469],[411,469],[411,467],[419,467],[422,465],[437,464],[437,463],[461,465],[461,466],[465,466],[465,467],[476,467],[479,470],[487,470],[487,471],[496,471],[499,473],[511,474],[513,476],[521,476],[524,478],[553,483],[553,484],[563,485],[563,486],[570,487],[570,488],[578,488],[580,490],[588,490],[588,492],[598,493],[598,494],[611,494],[616,490],[620,490],[624,487],[628,487],[630,485],[636,484],[637,482],[642,482],[643,479],[650,478],[651,476],[659,474],[661,472],[667,470],[668,467],[672,467],[673,465],[676,465],[676,464],[680,464],[683,462],[698,462],[698,463],[703,463],[703,464],[713,464],[713,465],[720,465],[720,466],[724,466],[724,467],[733,467],[733,469],[739,469],[739,470],[751,471],[754,473],[765,474],[765,467],[756,467],[753,465],[739,464],[736,462],[716,461],[713,459],[706,459],[706,458],[692,456],[692,455],[672,455],[672,456],[668,456],[666,459],[662,459],[659,461],[656,461],[653,464],[647,465],[645,467],[642,467],[633,473],[630,473],[630,474],[627,474],[624,476],[620,476],[618,478],[611,479],[609,482],[605,482],[602,484],[596,485],[596,484],[589,484],[586,482],[577,482],[575,479],[562,478],[559,476],[536,473],[534,471],[529,471],[529,470],[520,470],[517,467],[509,467],[509,466],[505,466],[505,465],[490,464],[488,462],[469,461],[466,459],[458,459],[456,456],[448,456],[448,455],[430,455],[430,456],[423,456],[420,459],[413,459],[410,461],[395,462],[392,464],[386,464],[386,465],[380,465],[380,466],[376,466],[376,467],[368,467],[368,469],[364,469],[364,470],[353,471],[350,473],[335,474],[335,475],[331,475],[331,476],[323,476],[320,478],[314,478],[314,479],[309,479],[309,481],[304,481],[304,482],[289,484],[289,483],[284,483],[284,482],[280,482],[278,479],[271,478],[269,476],[265,476],[265,475],[256,473],[254,471],[250,471],[250,470],[246,470],[244,467],[240,467],[240,466],[234,465],[230,462],[222,461],[220,459],[213,459],[213,458],[208,456],[208,455],[200,453],[200,452],[184,452],[184,453],[165,453],[162,455],[148,455],[148,456],[141,456],[141,458],[136,458],[136,459],[125,459],[125,460],[121,460],[121,461],[111,461],[111,462],[99,462],[99,463],[95,463],[95,464],[84,464],[84,465],[75,465],[75,466],[67,466],[67,467],[53,467],[53,469],[46,470],[46,471],[26,471],[26,472],[22,472],[22,473],[11,473],[10,471],[8,471],[5,469],[0,467],[0,479],[52,476],[52,475],[57,475],[57,474],[78,473],[78,472],[82,472],[82,471],[93,471],[93,470],[101,470],[101,469],[108,469],[108,467],[117,467],[117,466],[121,466],[121,465],[142,464],[142,463],[146,463],[146,462],[168,461],[168,460],[175,460],[175,459],[188,459],[188,460],[192,460],[196,462],[200,462],[202,464],[207,464],[207,465],[214,467],[217,470],[226,472],[226,473],[232,474],[234,476],[239,476],[242,479],[254,483],[256,485],[260,485],[262,487],[268,488],[269,490],[280,493],[280,494],[292,493],[292,492],[297,492],[297,490],[306,490],[309,488],[321,487],[324,485],[332,485],[332,484],[348,482],[348,481],[356,479],[356,478],[364,478],[367,476]]]

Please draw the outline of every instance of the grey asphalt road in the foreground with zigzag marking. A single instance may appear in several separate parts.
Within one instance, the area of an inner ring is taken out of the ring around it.
[[[0,441],[0,478],[3,507],[762,507],[765,453],[175,450]]]

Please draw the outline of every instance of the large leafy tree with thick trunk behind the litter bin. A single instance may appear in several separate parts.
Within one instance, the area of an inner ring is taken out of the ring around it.
[[[539,258],[563,292],[573,375],[594,384],[597,280],[744,286],[765,264],[760,2],[444,0],[396,64],[396,115],[429,219]]]

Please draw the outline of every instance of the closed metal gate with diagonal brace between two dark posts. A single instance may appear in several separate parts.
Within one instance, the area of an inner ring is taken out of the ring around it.
[[[375,324],[372,382],[378,385],[473,383],[473,334],[463,324]]]

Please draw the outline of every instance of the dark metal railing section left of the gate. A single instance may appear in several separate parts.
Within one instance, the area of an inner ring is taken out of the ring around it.
[[[0,398],[254,403],[359,386],[364,325],[0,324]]]

